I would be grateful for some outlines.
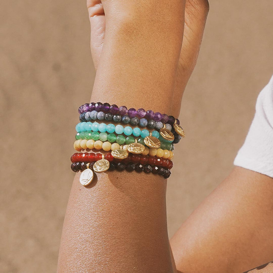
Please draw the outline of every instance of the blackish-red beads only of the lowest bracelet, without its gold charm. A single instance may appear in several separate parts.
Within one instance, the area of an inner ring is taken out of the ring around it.
[[[93,165],[95,164],[95,162],[91,162],[91,163],[88,163],[88,162],[74,162],[71,164],[71,170],[73,172],[78,172],[80,170],[86,170],[87,169],[87,164],[88,165],[88,168],[90,170],[93,170]],[[128,163],[124,163],[124,162],[118,162],[118,163],[115,163],[115,162],[110,162],[110,167],[109,169],[110,171],[112,170],[118,170],[118,171],[123,171],[123,170],[126,170],[128,172],[131,172],[131,171],[136,171],[138,173],[140,172],[145,172],[146,174],[149,174],[149,173],[153,173],[153,174],[159,174],[161,176],[163,176],[165,179],[169,178],[170,177],[170,169],[168,168],[163,168],[163,167],[159,167],[159,166],[156,166],[156,165],[150,165],[150,164],[141,164],[141,163],[133,163],[133,162],[128,162]]]

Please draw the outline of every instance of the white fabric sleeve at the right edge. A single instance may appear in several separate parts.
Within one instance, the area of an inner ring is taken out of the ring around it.
[[[273,177],[273,76],[258,96],[254,119],[234,165]]]

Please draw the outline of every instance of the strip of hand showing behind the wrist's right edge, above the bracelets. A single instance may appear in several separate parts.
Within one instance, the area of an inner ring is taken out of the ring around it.
[[[174,116],[179,115],[184,89],[197,62],[208,12],[207,0],[186,0],[184,36],[172,105]]]

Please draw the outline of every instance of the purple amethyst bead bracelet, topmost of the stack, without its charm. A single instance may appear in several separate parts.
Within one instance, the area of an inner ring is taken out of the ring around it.
[[[162,123],[173,124],[176,120],[177,125],[180,125],[180,121],[175,119],[174,116],[168,116],[166,114],[161,114],[159,112],[153,112],[152,110],[145,111],[143,108],[136,110],[135,108],[127,109],[126,106],[118,107],[116,104],[110,105],[109,103],[85,103],[79,107],[79,114],[92,112],[93,110],[97,112],[111,113],[113,115],[120,114],[122,116],[128,115],[130,118],[137,117],[139,119],[145,118],[147,120],[154,120],[155,122],[161,121]]]

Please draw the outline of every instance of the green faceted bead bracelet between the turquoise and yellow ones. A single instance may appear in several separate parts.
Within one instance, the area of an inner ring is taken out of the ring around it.
[[[149,138],[150,135],[153,137],[153,139],[155,141],[157,141],[158,144],[156,144],[157,147],[154,147],[152,145],[149,146],[145,143],[145,139]],[[167,150],[174,150],[174,144],[167,142],[167,141],[160,141],[156,136],[152,135],[151,133],[149,134],[149,136],[146,136],[145,138],[143,137],[139,137],[139,138],[134,138],[133,136],[127,136],[125,138],[125,136],[123,135],[115,135],[114,133],[110,133],[107,134],[105,132],[103,133],[98,133],[98,132],[92,132],[92,131],[84,131],[84,132],[79,132],[76,134],[75,136],[76,140],[101,140],[103,142],[105,141],[109,141],[110,143],[116,142],[120,145],[123,145],[124,143],[129,145],[131,143],[134,143],[136,140],[138,143],[141,143],[142,145],[146,145],[150,148],[162,148],[162,149],[167,149]],[[74,143],[75,145],[79,145],[80,143],[76,144],[76,142]]]

